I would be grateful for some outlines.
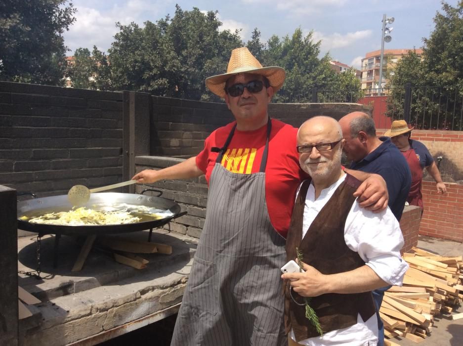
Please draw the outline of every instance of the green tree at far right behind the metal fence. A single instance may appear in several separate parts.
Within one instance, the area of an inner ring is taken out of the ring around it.
[[[411,52],[394,69],[387,114],[404,117],[405,83],[412,85],[410,123],[423,129],[462,130],[463,107],[463,0],[453,7],[442,2],[435,28],[423,39],[422,59]]]

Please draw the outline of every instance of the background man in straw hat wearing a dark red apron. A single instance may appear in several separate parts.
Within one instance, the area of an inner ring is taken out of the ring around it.
[[[391,129],[387,130],[384,135],[391,137],[392,143],[402,152],[410,166],[412,186],[407,202],[410,205],[420,207],[422,210],[421,182],[423,180],[423,168],[426,168],[429,175],[436,181],[437,192],[445,193],[447,192],[447,188],[442,182],[439,169],[426,146],[418,140],[410,139],[413,129],[409,129],[405,120],[395,120],[391,124]]]

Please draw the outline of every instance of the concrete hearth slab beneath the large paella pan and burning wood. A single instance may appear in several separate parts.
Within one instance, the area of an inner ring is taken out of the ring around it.
[[[125,234],[147,240],[146,231]],[[94,345],[158,320],[178,310],[197,239],[164,229],[153,231],[152,241],[172,246],[171,255],[143,254],[150,262],[141,270],[117,263],[112,255],[93,249],[84,268],[71,272],[79,253],[72,237],[60,240],[60,262],[53,268],[53,237],[41,241],[42,279],[20,275],[20,285],[42,300],[34,315],[20,321],[20,345],[60,346],[71,343]],[[36,243],[18,239],[19,268],[36,267]],[[161,312],[161,313],[160,313]],[[141,322],[137,322],[141,321]],[[116,331],[116,332],[115,332]]]

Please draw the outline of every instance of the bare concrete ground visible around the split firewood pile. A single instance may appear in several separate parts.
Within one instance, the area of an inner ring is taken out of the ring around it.
[[[441,256],[462,256],[463,244],[452,240],[420,236],[418,247]],[[420,346],[461,346],[463,345],[463,319],[452,320],[452,315],[463,312],[463,307],[458,306],[452,314],[436,316],[434,325],[430,328],[430,336],[424,339]],[[401,346],[417,345],[405,338],[391,339]]]

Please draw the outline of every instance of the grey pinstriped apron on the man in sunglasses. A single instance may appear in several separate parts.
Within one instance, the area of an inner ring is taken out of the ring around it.
[[[270,223],[265,166],[240,174],[221,166],[233,129],[210,176],[206,222],[178,312],[171,346],[281,346],[285,239]],[[218,148],[217,148],[218,149]]]

